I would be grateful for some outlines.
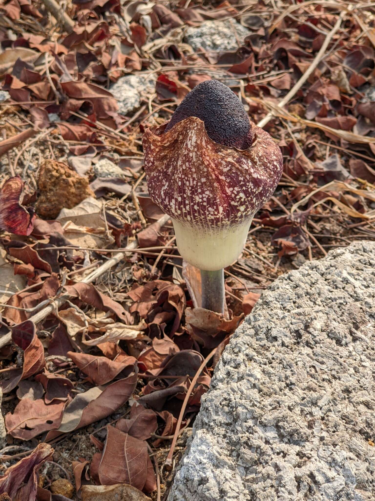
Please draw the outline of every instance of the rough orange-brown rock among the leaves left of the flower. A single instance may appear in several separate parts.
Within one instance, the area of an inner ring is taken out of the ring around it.
[[[55,219],[61,209],[71,209],[88,196],[95,196],[86,177],[79,176],[68,165],[50,159],[41,164],[38,188],[40,196],[35,211],[45,219]]]

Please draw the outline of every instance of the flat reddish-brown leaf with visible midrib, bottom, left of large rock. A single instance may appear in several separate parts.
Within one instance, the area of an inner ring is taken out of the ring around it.
[[[99,479],[102,485],[113,485],[115,483],[128,483],[139,490],[145,487],[147,476],[151,478],[153,488],[155,488],[155,475],[149,470],[151,460],[147,453],[147,443],[138,440],[127,433],[107,426],[107,436],[104,449],[99,464]],[[151,465],[152,469],[152,465]],[[153,482],[152,482],[153,480]]]

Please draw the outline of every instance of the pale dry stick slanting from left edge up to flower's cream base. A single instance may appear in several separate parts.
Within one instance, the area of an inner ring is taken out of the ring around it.
[[[158,224],[163,226],[168,222],[170,217],[168,215],[163,215],[160,217],[160,219],[157,220]],[[96,280],[100,275],[102,275],[104,272],[112,268],[112,266],[116,265],[121,261],[126,256],[126,251],[128,250],[134,250],[138,246],[138,242],[134,240],[128,245],[128,248],[125,247],[124,252],[118,253],[116,256],[114,256],[111,259],[108,259],[105,263],[103,263],[97,270],[94,270],[92,273],[87,275],[81,283],[82,284],[91,284],[94,280]],[[53,300],[49,305],[47,305],[45,308],[40,310],[39,312],[35,313],[32,317],[30,317],[28,320],[31,322],[34,322],[34,324],[37,324],[38,322],[41,322],[47,315],[52,313],[53,311],[56,311],[56,309],[63,305],[67,300],[69,299],[68,294],[64,294],[63,296],[60,296],[59,298],[56,298]],[[4,334],[0,338],[0,348],[3,346],[6,346],[7,344],[11,343],[11,332],[8,332],[7,334]]]

